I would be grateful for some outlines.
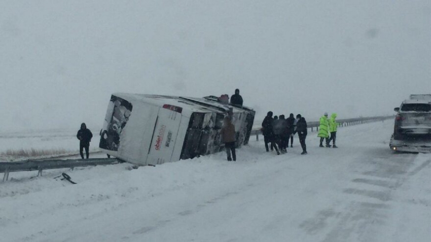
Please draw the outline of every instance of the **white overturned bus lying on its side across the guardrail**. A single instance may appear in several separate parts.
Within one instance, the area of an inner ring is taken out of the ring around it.
[[[253,109],[223,104],[215,96],[115,93],[106,111],[99,147],[139,166],[215,153],[224,149],[220,130],[227,115],[235,126],[236,147],[247,144]]]

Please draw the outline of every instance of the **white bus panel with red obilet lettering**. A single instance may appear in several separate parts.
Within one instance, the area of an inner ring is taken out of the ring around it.
[[[151,145],[147,149],[147,165],[159,165],[171,161],[181,116],[179,112],[159,108]]]

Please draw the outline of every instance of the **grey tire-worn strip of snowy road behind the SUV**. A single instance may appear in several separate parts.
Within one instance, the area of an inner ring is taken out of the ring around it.
[[[409,170],[415,167],[415,157],[414,154],[403,154],[361,160],[360,166],[367,170],[361,172],[359,178],[353,178],[348,183],[350,187],[342,191],[352,195],[351,202],[337,214],[339,221],[322,241],[356,241],[358,238],[378,241],[378,227],[385,226],[389,218],[392,193],[409,178]]]

